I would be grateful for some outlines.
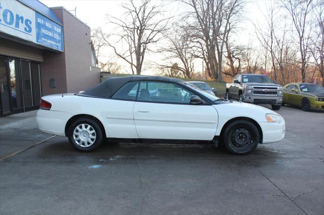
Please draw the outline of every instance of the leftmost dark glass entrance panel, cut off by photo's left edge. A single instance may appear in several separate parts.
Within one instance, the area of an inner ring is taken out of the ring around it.
[[[7,58],[0,56],[0,114],[3,117],[11,114],[10,97]]]

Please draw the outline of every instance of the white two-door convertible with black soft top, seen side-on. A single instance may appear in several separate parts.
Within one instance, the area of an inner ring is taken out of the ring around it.
[[[247,154],[259,143],[282,140],[286,128],[280,115],[262,106],[155,76],[109,78],[79,94],[44,96],[36,120],[41,131],[67,136],[79,151],[93,151],[106,138],[127,138],[220,141],[232,154]]]

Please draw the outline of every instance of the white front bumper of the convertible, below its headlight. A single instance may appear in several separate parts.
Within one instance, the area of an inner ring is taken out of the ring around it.
[[[284,139],[286,134],[286,124],[283,118],[280,123],[262,122],[259,123],[259,125],[263,134],[262,143],[273,143]]]

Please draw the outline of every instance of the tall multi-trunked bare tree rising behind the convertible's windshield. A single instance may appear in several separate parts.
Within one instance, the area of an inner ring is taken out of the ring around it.
[[[229,31],[231,18],[239,13],[241,1],[238,0],[182,0],[192,9],[185,19],[195,47],[199,49],[196,57],[206,63],[215,80],[222,81],[222,58],[225,36]]]

